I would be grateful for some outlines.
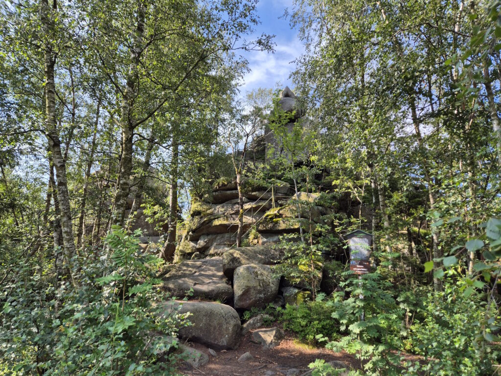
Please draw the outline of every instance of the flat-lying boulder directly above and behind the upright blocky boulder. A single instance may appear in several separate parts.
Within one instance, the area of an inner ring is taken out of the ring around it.
[[[274,265],[283,257],[281,250],[272,247],[240,247],[226,251],[222,256],[222,270],[226,277],[233,278],[236,268],[248,264]]]

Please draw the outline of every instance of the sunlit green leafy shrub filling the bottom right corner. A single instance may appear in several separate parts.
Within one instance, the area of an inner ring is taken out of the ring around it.
[[[477,341],[485,302],[465,298],[460,287],[446,284],[443,292],[428,294],[423,305],[422,319],[411,326],[405,344],[408,351],[425,356],[426,362],[409,363],[409,371],[443,376],[493,374],[499,346]]]

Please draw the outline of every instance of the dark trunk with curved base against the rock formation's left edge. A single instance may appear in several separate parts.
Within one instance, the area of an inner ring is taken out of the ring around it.
[[[167,231],[167,240],[162,249],[162,257],[170,261],[174,258],[176,251],[176,236],[177,236],[177,173],[179,162],[179,143],[176,130],[172,132],[172,171],[170,185],[170,202],[169,202],[169,229]]]

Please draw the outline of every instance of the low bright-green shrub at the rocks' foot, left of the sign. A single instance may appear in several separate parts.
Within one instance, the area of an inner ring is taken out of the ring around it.
[[[319,336],[333,339],[339,331],[339,322],[331,315],[333,309],[324,301],[311,301],[299,306],[287,305],[281,309],[280,321],[284,329],[291,330],[300,339],[318,343]]]

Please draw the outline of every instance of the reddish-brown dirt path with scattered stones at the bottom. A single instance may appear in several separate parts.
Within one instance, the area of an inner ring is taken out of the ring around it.
[[[209,354],[208,348],[203,345],[191,343],[190,346]],[[247,351],[253,358],[239,362],[238,358]],[[281,344],[272,349],[265,349],[252,342],[248,333],[242,337],[236,350],[216,351],[216,356],[209,355],[209,362],[203,367],[195,369],[183,363],[178,370],[185,376],[300,376],[309,370],[308,364],[315,359],[337,360],[348,367],[357,367],[353,356],[302,345],[294,340],[291,333],[286,333]]]

